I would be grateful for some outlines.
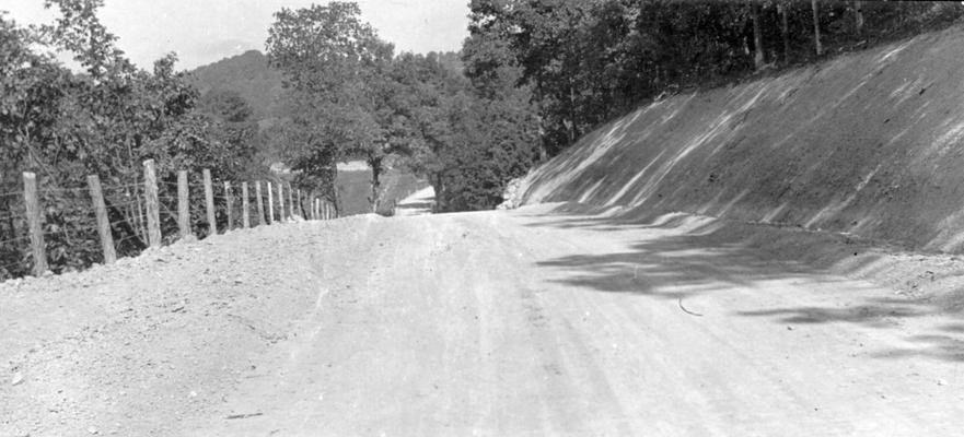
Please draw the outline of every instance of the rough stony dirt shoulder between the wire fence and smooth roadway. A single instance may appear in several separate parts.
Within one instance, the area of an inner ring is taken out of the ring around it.
[[[184,435],[291,335],[373,215],[234,232],[0,284],[0,436]],[[349,232],[349,231],[353,231]],[[324,251],[323,251],[324,250]]]

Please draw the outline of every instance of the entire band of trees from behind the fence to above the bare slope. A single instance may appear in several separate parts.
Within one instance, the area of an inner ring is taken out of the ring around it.
[[[150,71],[136,67],[97,19],[103,0],[45,4],[58,12],[48,25],[0,13],[0,279],[30,264],[22,172],[38,176],[58,272],[102,261],[86,175],[112,190],[119,251],[144,248],[136,187],[148,158],[169,178],[162,190],[175,170],[254,180],[280,160],[298,188],[333,200],[337,163],[361,158],[372,168],[373,210],[387,168],[426,177],[439,211],[490,209],[511,179],[646,101],[940,28],[964,13],[960,2],[472,0],[462,50],[422,55],[397,54],[356,3],[330,2],[275,14],[270,71],[252,80],[280,86],[244,93],[205,87],[175,71],[173,54]],[[73,54],[80,70],[56,51]],[[205,221],[195,217],[196,234]]]

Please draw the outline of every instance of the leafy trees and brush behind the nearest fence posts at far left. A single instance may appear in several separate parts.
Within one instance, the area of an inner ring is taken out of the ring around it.
[[[221,114],[198,110],[198,92],[174,71],[174,55],[158,60],[151,72],[138,69],[97,19],[102,0],[45,4],[58,12],[53,24],[24,28],[0,15],[0,192],[20,191],[21,172],[38,175],[47,252],[59,272],[101,259],[86,175],[120,187],[107,201],[124,253],[144,246],[137,224],[142,196],[136,189],[144,160],[156,161],[166,182],[175,180],[175,170],[210,168],[216,178],[227,178],[256,165],[254,134],[243,126],[249,109],[242,102],[212,103]],[[54,50],[72,52],[83,73],[44,54]],[[16,196],[0,197],[0,216],[22,216],[20,202]],[[10,218],[0,225],[0,240],[20,238],[24,228],[22,220]],[[14,247],[0,253],[0,265],[26,259],[24,245]],[[0,276],[20,273],[22,265],[0,270]]]

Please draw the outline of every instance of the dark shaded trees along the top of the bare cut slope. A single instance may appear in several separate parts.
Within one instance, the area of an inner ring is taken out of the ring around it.
[[[821,43],[829,51],[945,25],[964,13],[957,2],[817,3]],[[497,95],[518,73],[514,85],[532,90],[546,155],[662,93],[816,58],[809,1],[473,0],[469,8],[466,74]]]

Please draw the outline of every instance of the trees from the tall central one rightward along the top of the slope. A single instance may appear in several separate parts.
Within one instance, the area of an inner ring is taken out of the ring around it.
[[[394,54],[332,2],[276,14],[286,158],[330,185],[353,155],[429,178],[440,211],[492,208],[506,184],[648,99],[939,28],[950,2],[473,0],[460,54]]]

